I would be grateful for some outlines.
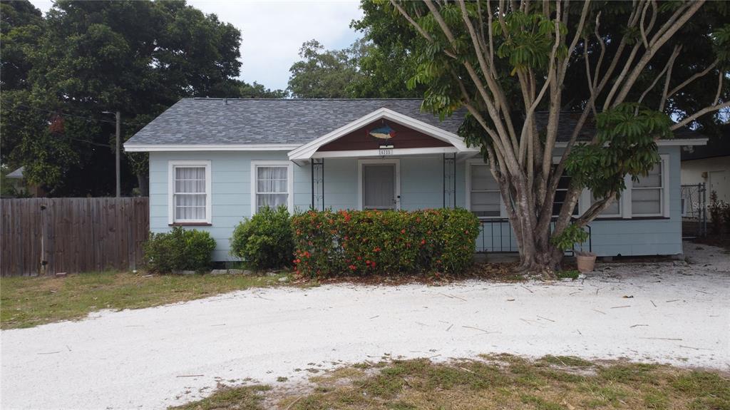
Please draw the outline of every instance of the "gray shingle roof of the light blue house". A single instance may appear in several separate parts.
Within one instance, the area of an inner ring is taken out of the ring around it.
[[[304,144],[386,107],[456,134],[458,113],[440,122],[420,99],[183,98],[128,144]]]

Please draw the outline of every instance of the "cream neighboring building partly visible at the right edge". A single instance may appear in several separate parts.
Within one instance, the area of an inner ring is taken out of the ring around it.
[[[682,150],[682,185],[704,183],[707,201],[710,193],[718,194],[718,201],[730,204],[730,126],[723,135],[711,138],[707,145],[688,146]]]

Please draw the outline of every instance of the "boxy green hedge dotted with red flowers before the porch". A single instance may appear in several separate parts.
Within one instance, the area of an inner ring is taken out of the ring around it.
[[[479,234],[466,209],[323,211],[292,217],[294,263],[304,276],[458,273]]]

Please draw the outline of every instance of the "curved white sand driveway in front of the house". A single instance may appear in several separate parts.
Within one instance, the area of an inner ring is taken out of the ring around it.
[[[0,404],[164,409],[219,380],[296,381],[310,373],[295,369],[385,354],[629,357],[727,371],[730,257],[695,253],[705,263],[613,264],[575,282],[280,287],[4,330]]]

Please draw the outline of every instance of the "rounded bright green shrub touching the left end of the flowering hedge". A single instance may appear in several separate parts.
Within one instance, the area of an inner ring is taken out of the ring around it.
[[[294,243],[286,206],[268,206],[236,227],[231,238],[231,255],[242,258],[257,269],[291,265]]]

